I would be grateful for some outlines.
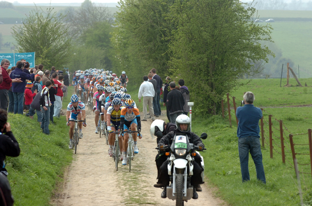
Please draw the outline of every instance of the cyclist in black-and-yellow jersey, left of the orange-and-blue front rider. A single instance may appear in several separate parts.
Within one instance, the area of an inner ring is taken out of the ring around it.
[[[119,132],[120,131],[120,113],[121,109],[120,108],[120,99],[119,98],[114,98],[112,101],[112,106],[110,106],[107,110],[107,122],[109,123],[107,126],[107,130],[109,132],[116,132],[116,130]],[[123,160],[123,140],[122,136],[119,135],[119,149],[120,149],[120,159]],[[113,156],[113,145],[115,142],[114,139],[114,133],[110,133],[109,135],[109,145],[110,148],[108,150],[109,156]]]

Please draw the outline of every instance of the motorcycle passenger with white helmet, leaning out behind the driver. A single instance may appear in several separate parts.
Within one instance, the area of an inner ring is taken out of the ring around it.
[[[166,124],[165,121],[161,119],[156,119],[153,121],[153,123],[150,126],[150,135],[152,136],[157,136],[157,144],[159,143],[159,140],[167,135],[168,133],[174,131],[176,129],[176,125],[168,122]],[[157,179],[159,179],[160,175],[160,166],[168,159],[168,157],[165,155],[165,151],[160,151],[155,158],[156,161],[156,167],[157,167]],[[154,184],[154,187],[164,187],[165,185],[162,183],[157,182]]]

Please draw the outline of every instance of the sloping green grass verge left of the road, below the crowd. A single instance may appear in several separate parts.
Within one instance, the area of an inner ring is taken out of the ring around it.
[[[63,171],[72,161],[65,116],[55,118],[56,124],[49,125],[50,135],[40,132],[36,119],[19,114],[8,116],[21,148],[19,157],[6,160],[15,206],[49,206],[56,183],[62,181]]]

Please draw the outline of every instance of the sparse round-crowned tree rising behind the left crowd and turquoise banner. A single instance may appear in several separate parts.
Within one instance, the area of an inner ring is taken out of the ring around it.
[[[36,52],[35,57],[45,63],[45,67],[63,68],[70,60],[72,41],[68,27],[63,24],[63,15],[57,16],[53,8],[44,12],[36,7],[23,21],[23,26],[13,26],[12,36],[16,40],[18,52]]]

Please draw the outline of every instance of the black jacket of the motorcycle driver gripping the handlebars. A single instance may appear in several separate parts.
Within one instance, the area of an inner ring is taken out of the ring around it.
[[[172,92],[172,91],[171,91]],[[170,145],[172,144],[173,137],[175,136],[176,133],[184,133],[189,137],[189,142],[193,143],[194,145],[204,147],[205,145],[202,143],[201,139],[199,136],[197,136],[194,132],[187,131],[187,132],[181,132],[177,129],[174,129],[174,131],[168,133],[165,137],[161,138],[158,143],[158,147],[161,145]]]

